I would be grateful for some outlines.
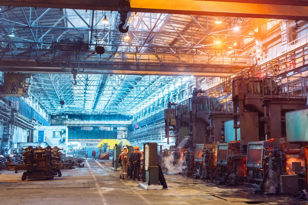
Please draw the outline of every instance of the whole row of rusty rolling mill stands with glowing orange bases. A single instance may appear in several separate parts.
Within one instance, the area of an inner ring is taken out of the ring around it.
[[[186,176],[246,183],[267,193],[294,193],[304,186],[306,78],[237,78],[232,98],[203,93],[194,89],[188,105],[170,102],[165,111],[166,137],[176,138]],[[183,107],[189,113],[180,112]],[[289,181],[296,187],[292,191]]]

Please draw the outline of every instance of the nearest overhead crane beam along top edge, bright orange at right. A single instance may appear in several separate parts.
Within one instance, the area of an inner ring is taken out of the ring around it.
[[[249,2],[249,3],[247,3]],[[263,3],[260,4],[259,2]],[[96,0],[0,0],[0,5],[43,8],[68,8],[87,10],[117,10],[117,1]],[[209,16],[251,17],[269,19],[308,20],[306,2],[294,0],[236,0],[236,1],[195,1],[195,0],[131,0],[130,12],[151,12],[168,14],[193,14]]]

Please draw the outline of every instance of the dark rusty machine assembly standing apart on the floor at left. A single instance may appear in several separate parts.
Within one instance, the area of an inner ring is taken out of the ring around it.
[[[26,179],[53,179],[55,175],[61,176],[61,169],[63,164],[61,163],[61,155],[59,152],[62,149],[58,147],[51,148],[47,146],[42,147],[32,147],[22,149],[24,162],[19,165],[9,165],[9,170],[26,170],[23,173],[22,180]]]

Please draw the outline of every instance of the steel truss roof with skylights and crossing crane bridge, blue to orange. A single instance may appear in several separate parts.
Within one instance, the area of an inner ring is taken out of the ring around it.
[[[210,16],[129,13],[130,29],[122,34],[117,12],[1,7],[0,70],[33,73],[31,92],[50,115],[134,115],[152,106],[158,112],[162,97],[191,80],[170,74],[228,76],[251,66],[235,42],[253,39],[258,21],[222,20],[216,25]],[[60,44],[88,48],[67,51]],[[97,45],[104,54],[95,53]]]

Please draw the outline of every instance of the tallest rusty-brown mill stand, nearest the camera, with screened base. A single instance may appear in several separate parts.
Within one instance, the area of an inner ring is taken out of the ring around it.
[[[241,140],[238,155],[247,154],[248,185],[278,193],[281,190],[279,177],[286,174],[286,154],[289,153],[286,149],[298,152],[302,146],[285,143],[284,139],[286,113],[306,108],[305,79],[240,78],[233,81],[232,91],[234,136],[236,141],[238,136]],[[234,166],[236,163],[231,161]]]

